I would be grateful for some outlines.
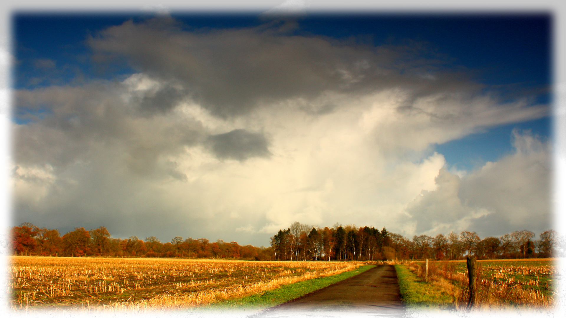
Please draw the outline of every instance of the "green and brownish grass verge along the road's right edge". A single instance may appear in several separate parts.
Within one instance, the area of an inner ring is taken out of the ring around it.
[[[402,302],[409,308],[454,308],[454,298],[432,283],[422,281],[405,265],[395,265]]]

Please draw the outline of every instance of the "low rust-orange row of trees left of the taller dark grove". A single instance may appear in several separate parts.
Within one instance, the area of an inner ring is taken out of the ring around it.
[[[63,237],[58,230],[48,230],[24,223],[11,230],[12,248],[16,255],[37,256],[116,256],[116,257],[182,257],[220,258],[244,260],[271,260],[271,247],[241,246],[238,242],[174,237],[162,243],[156,237],[144,240],[132,236],[128,239],[110,237],[104,227],[85,230],[76,227]]]

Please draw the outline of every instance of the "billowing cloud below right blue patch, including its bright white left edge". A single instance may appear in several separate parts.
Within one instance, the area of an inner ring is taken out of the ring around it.
[[[467,229],[500,236],[550,229],[550,146],[528,131],[514,130],[512,138],[513,154],[464,178],[440,169],[436,189],[423,190],[406,209],[414,234]]]

